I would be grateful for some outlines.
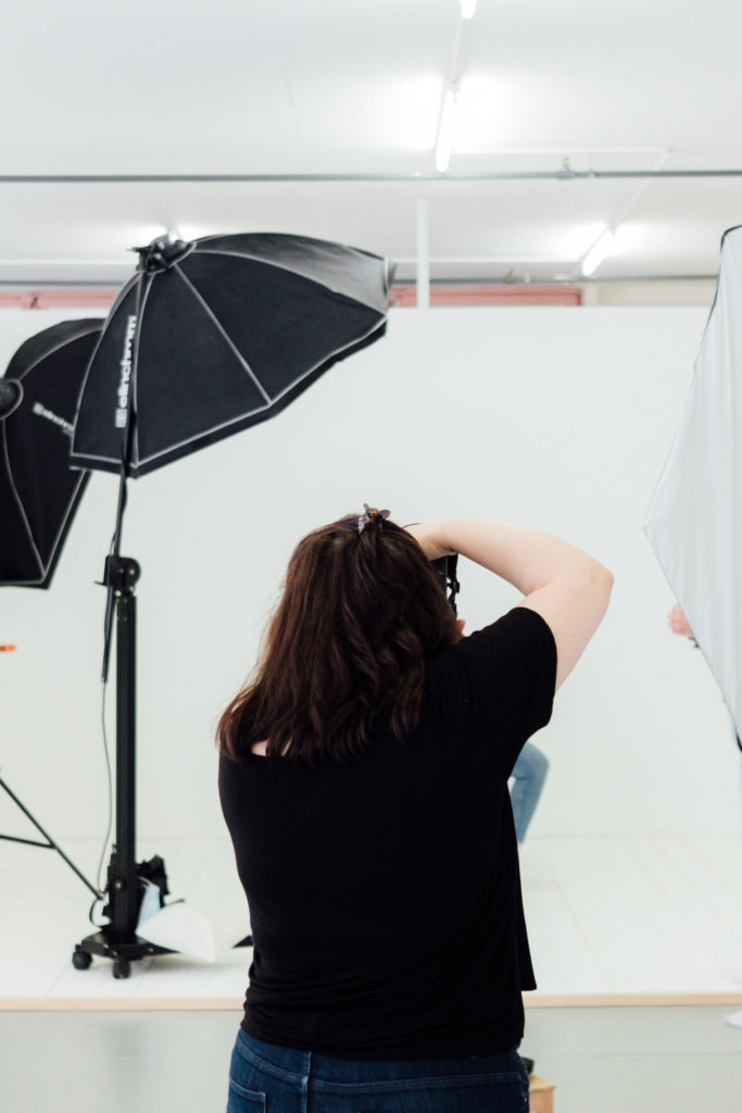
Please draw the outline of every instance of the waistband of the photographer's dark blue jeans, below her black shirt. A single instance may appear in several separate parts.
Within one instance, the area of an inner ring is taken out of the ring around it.
[[[399,1078],[499,1074],[522,1070],[517,1045],[495,1055],[471,1055],[466,1058],[348,1060],[264,1043],[240,1028],[236,1048],[256,1066],[287,1082],[309,1076],[316,1081],[335,1083],[393,1082]]]

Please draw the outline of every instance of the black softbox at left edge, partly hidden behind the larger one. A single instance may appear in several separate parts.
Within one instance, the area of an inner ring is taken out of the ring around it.
[[[26,341],[0,378],[0,585],[48,588],[88,481],[69,467],[77,396],[102,321]]]

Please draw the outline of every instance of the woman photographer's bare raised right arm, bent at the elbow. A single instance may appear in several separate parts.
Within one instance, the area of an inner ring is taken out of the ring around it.
[[[556,688],[572,672],[605,614],[613,575],[566,541],[517,525],[447,518],[407,528],[426,556],[457,552],[523,592],[556,642]]]

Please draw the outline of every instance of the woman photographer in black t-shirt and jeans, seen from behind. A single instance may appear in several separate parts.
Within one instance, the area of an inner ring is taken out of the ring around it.
[[[523,599],[462,638],[429,562]],[[297,545],[218,728],[255,940],[228,1113],[526,1111],[507,780],[612,577],[534,530],[369,510]]]

